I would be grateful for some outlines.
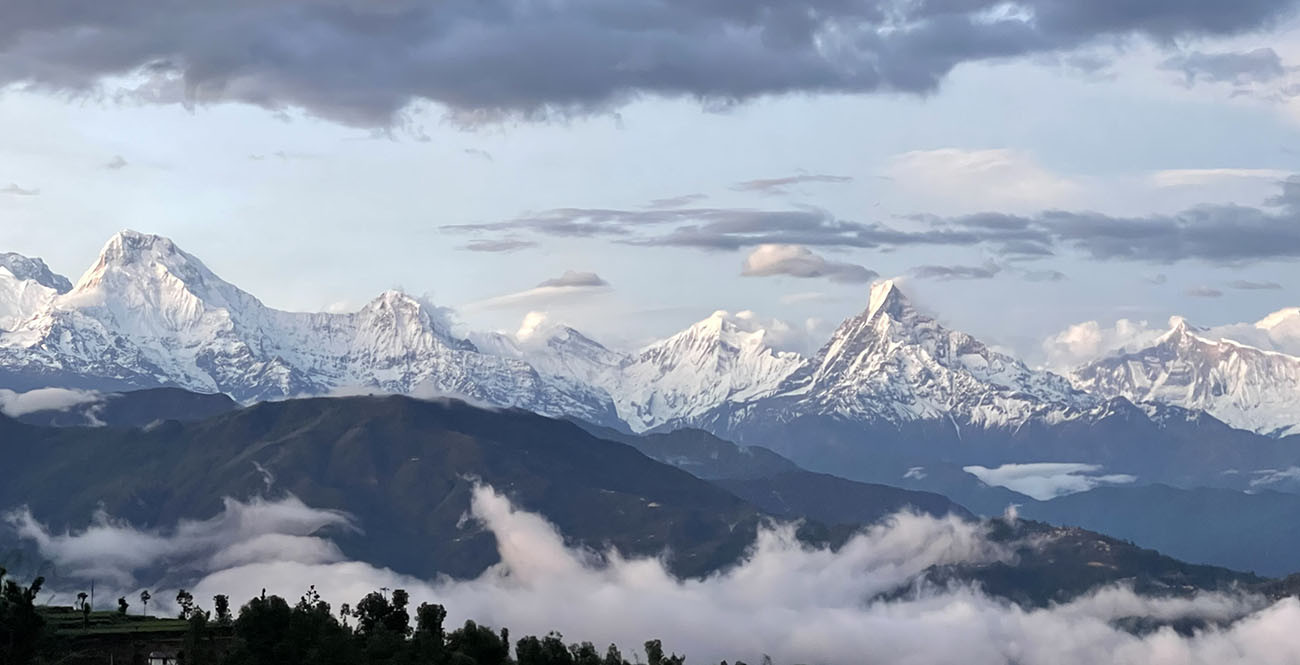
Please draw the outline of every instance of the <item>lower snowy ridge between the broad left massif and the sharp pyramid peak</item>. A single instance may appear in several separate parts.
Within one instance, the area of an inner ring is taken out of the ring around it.
[[[772,348],[768,332],[750,317],[723,310],[634,353],[611,351],[536,314],[529,314],[515,335],[491,332],[471,339],[484,352],[603,388],[634,431],[768,395],[803,360]]]

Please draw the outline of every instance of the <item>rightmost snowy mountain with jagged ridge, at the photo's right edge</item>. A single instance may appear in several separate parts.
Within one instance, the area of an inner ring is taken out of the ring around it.
[[[1296,323],[1300,314],[1287,309],[1253,327],[1268,339]],[[1219,339],[1183,320],[1152,345],[1089,362],[1071,379],[1097,395],[1204,410],[1258,434],[1300,433],[1300,357]]]

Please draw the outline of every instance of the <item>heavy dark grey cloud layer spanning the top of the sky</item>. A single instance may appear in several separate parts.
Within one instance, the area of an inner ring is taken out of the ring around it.
[[[389,126],[413,100],[463,121],[930,92],[963,62],[1274,23],[1295,0],[8,0],[0,86],[156,103],[238,100]],[[1014,10],[1008,12],[1008,8]]]

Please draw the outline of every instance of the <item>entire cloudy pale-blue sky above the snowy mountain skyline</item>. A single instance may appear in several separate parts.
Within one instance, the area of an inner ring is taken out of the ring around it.
[[[161,234],[282,309],[807,351],[900,278],[1041,360],[1300,300],[1292,0],[17,0],[0,127],[0,251]]]

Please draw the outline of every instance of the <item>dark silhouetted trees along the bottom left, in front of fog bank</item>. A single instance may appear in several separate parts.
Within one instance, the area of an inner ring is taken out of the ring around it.
[[[35,604],[43,579],[30,587],[4,579],[0,595],[0,662],[58,662],[60,642],[47,635]],[[146,597],[142,597],[147,603]],[[204,610],[186,591],[177,595],[179,618],[187,622],[183,665],[632,665],[614,644],[603,652],[590,642],[566,643],[563,635],[529,635],[511,643],[510,631],[473,621],[447,631],[442,605],[411,608],[403,590],[368,594],[356,605],[335,612],[312,587],[292,605],[265,591],[238,613],[226,596],[214,596]],[[126,599],[118,612],[126,614]],[[87,609],[88,614],[88,609]],[[684,665],[659,640],[644,644],[646,665]],[[636,662],[642,662],[634,657]],[[724,664],[725,665],[725,664]],[[736,665],[744,665],[737,662]]]

